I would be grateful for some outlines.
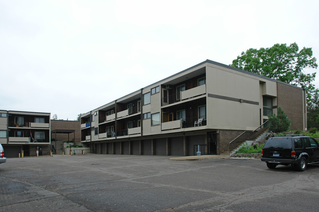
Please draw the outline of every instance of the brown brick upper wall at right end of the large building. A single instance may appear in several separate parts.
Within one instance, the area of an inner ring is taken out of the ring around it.
[[[283,83],[277,83],[278,107],[284,110],[292,121],[291,130],[303,130],[303,90]]]

